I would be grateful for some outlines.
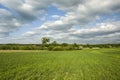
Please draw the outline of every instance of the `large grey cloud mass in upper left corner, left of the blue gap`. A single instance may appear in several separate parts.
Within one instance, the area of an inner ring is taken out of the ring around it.
[[[11,32],[19,30],[23,25],[37,20],[47,7],[37,6],[36,4],[39,2],[31,2],[30,0],[25,2],[22,0],[0,0],[0,3],[7,8],[0,9],[1,37],[3,37],[2,35],[9,36]]]

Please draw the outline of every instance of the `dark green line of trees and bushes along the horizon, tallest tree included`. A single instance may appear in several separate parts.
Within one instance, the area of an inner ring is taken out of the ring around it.
[[[68,44],[57,43],[57,41],[50,42],[50,38],[43,37],[41,44],[0,44],[0,50],[82,50],[83,48],[99,49],[99,48],[116,48],[120,44]]]

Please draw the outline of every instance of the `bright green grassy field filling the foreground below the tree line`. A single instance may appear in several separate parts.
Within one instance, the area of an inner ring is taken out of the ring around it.
[[[0,80],[120,80],[120,48],[0,51]]]

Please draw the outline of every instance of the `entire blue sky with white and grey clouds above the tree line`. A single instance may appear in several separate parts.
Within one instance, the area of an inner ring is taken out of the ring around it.
[[[0,44],[120,43],[120,0],[0,0]]]

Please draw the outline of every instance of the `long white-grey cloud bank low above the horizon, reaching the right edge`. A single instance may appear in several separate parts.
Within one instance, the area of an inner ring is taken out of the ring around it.
[[[120,21],[97,24],[82,29],[70,28],[66,31],[40,27],[24,34],[26,37],[35,35],[47,36],[59,42],[78,43],[118,43],[120,41]]]

